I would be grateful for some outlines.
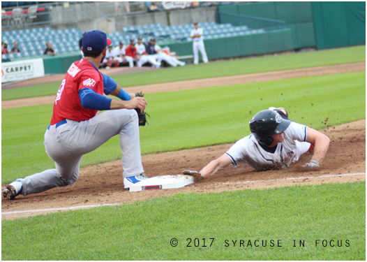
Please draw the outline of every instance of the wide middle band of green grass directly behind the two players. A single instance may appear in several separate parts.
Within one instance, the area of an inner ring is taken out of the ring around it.
[[[269,106],[287,108],[292,120],[313,129],[365,119],[365,83],[365,73],[354,72],[147,94],[151,117],[140,128],[142,154],[234,143],[250,133],[255,112]],[[3,184],[54,168],[43,145],[51,116],[52,105],[2,110]],[[84,155],[82,166],[120,158],[115,136]]]

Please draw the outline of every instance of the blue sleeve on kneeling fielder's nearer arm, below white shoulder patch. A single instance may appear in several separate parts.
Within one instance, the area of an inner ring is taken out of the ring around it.
[[[110,110],[111,101],[101,94],[97,94],[93,89],[84,87],[79,90],[80,103],[84,108],[91,110]]]

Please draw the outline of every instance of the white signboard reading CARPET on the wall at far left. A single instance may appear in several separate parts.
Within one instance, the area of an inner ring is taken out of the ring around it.
[[[1,82],[22,81],[44,75],[42,58],[1,63]]]

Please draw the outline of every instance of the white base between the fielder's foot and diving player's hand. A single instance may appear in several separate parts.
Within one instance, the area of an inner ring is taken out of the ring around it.
[[[178,189],[193,184],[193,182],[194,178],[191,175],[159,175],[132,184],[129,190],[134,192],[151,189]]]

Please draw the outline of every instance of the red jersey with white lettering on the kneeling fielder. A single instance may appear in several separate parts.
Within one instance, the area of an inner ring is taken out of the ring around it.
[[[89,61],[81,59],[70,66],[66,77],[61,82],[54,101],[52,125],[63,119],[84,121],[91,119],[98,113],[98,110],[84,108],[80,103],[78,92],[84,87],[91,88],[97,94],[103,95],[102,74]]]

